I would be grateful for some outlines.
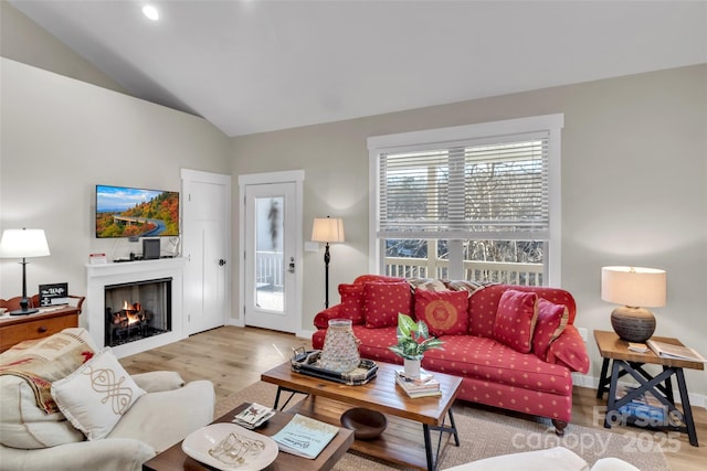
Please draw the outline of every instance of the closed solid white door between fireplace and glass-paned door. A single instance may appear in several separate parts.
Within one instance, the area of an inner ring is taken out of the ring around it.
[[[231,178],[182,170],[184,330],[188,334],[225,324],[231,304]]]

